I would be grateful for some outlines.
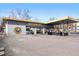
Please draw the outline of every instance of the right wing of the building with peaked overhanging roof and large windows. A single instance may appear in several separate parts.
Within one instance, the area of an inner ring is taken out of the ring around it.
[[[71,17],[64,17],[48,23],[48,25],[52,26],[52,28],[56,31],[62,30],[68,32],[77,32],[78,24],[79,21]]]

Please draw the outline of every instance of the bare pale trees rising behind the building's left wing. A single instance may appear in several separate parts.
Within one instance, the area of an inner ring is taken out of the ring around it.
[[[30,11],[28,9],[13,9],[11,10],[9,17],[28,20],[31,19],[29,12]]]

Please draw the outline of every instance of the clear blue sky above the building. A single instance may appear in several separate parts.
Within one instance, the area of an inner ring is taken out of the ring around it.
[[[0,17],[8,16],[12,9],[29,9],[33,20],[48,21],[49,18],[71,16],[79,18],[79,4],[66,3],[3,3],[0,4]]]

